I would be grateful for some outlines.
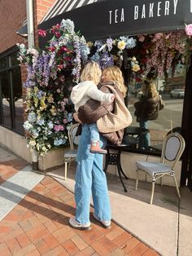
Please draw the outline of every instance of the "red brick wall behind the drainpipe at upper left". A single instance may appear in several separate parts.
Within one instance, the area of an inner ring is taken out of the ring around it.
[[[54,4],[55,0],[33,0],[33,19],[34,19],[34,33],[35,45],[38,46],[37,24],[46,15],[47,11]],[[24,20],[27,19],[26,0],[0,0],[0,54],[7,49],[15,46],[17,42],[28,45],[27,38],[22,38],[16,32],[23,26]],[[21,65],[21,79],[26,81],[27,71],[25,66]],[[23,98],[25,98],[26,91],[23,90]],[[26,108],[24,104],[24,109]],[[25,112],[24,112],[25,117]]]

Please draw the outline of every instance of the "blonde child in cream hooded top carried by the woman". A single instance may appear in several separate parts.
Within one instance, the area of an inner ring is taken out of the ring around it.
[[[96,99],[101,102],[113,102],[115,95],[103,93],[98,90],[98,82],[102,76],[102,71],[96,62],[85,64],[81,73],[81,82],[72,88],[71,99],[78,112],[80,106],[84,105],[88,99]],[[99,146],[99,132],[96,123],[89,125],[91,147],[90,152],[106,154],[107,150]]]

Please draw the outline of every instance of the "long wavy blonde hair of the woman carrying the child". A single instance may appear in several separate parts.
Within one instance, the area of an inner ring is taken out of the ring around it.
[[[124,77],[122,72],[120,71],[120,68],[118,68],[117,66],[108,66],[107,68],[103,69],[103,73],[106,74],[106,78],[108,81],[112,80],[116,82],[118,89],[125,97],[127,87],[124,85]]]

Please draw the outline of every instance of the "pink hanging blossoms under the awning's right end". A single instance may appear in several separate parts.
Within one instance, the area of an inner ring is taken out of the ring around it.
[[[139,35],[143,44],[144,59],[142,63],[146,73],[155,69],[158,77],[164,77],[170,68],[181,61],[185,63],[186,37],[183,30],[170,33],[155,33],[154,35]]]

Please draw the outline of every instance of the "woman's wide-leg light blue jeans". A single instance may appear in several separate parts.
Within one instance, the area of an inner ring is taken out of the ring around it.
[[[100,146],[106,143],[101,136]],[[94,201],[94,214],[103,221],[111,220],[111,206],[107,191],[106,174],[103,171],[103,154],[91,153],[89,125],[82,126],[81,139],[77,152],[76,166],[76,221],[89,223],[91,193]]]

